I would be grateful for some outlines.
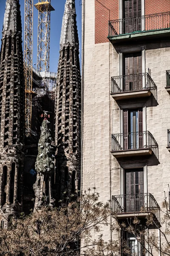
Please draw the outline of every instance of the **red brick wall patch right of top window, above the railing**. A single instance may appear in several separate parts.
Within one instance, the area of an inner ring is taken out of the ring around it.
[[[145,15],[170,12],[170,0],[145,0]]]

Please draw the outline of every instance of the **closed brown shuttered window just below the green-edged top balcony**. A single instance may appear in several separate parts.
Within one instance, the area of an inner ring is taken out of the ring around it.
[[[142,89],[142,52],[124,55],[124,75],[125,91]]]

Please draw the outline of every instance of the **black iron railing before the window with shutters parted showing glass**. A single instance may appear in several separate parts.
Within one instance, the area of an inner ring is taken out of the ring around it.
[[[158,143],[149,131],[112,134],[112,152],[149,148],[158,158]]]

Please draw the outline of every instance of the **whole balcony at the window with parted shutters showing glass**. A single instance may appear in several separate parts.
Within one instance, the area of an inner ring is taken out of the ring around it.
[[[112,134],[111,146],[116,158],[155,154],[158,159],[158,144],[149,131]]]

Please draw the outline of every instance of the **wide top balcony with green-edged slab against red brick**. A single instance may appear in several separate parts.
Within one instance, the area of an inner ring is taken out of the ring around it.
[[[109,21],[108,39],[112,44],[170,36],[170,12]]]

